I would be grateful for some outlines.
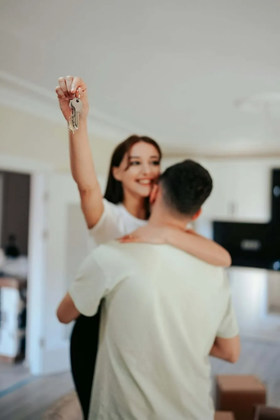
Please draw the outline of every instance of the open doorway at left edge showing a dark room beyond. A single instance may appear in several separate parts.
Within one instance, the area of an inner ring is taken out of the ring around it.
[[[29,375],[22,362],[26,357],[30,181],[29,174],[0,171],[0,369],[6,385]]]

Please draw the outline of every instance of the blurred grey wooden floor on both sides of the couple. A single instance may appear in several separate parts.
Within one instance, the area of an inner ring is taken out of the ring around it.
[[[212,359],[212,368],[213,375],[258,375],[267,384],[268,404],[280,407],[279,344],[243,340],[235,365]],[[0,365],[0,381],[0,420],[41,420],[52,402],[73,389],[70,373],[33,378],[21,365]]]

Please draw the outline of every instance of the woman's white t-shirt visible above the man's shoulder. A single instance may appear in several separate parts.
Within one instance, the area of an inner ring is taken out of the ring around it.
[[[95,246],[130,234],[147,224],[147,220],[137,219],[130,214],[122,203],[113,204],[103,199],[103,205],[101,218],[93,228],[89,229]]]

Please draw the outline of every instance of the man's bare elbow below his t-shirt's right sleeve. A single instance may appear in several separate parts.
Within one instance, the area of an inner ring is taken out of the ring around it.
[[[240,338],[239,336],[231,339],[222,339],[216,337],[210,356],[218,357],[230,363],[236,363],[240,356]]]

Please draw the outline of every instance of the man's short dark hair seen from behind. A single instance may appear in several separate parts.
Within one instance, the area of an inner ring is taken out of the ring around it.
[[[165,204],[181,215],[198,212],[213,186],[209,172],[190,159],[167,168],[159,182]]]

